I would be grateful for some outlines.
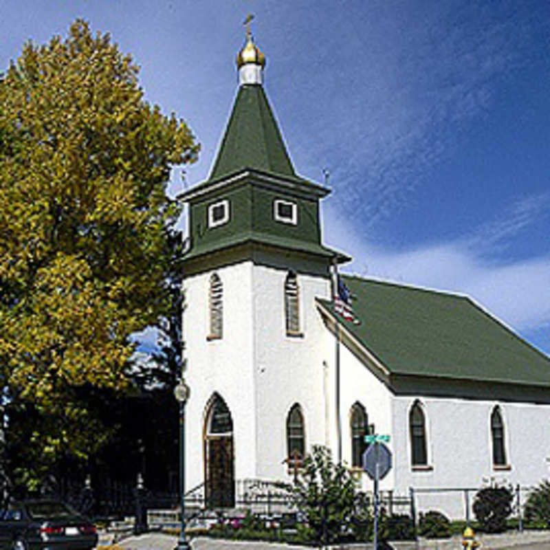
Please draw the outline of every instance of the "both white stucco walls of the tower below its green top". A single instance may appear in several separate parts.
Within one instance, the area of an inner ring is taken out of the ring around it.
[[[214,392],[227,403],[234,428],[234,475],[287,479],[286,420],[294,403],[305,420],[307,448],[325,444],[325,344],[328,333],[315,297],[330,281],[298,274],[300,331],[287,336],[287,270],[243,262],[215,270],[223,284],[223,338],[207,340],[208,289],[214,270],[186,278],[186,487],[203,482],[203,426]]]

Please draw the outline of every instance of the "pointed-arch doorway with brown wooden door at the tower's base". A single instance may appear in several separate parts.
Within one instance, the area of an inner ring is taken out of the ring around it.
[[[228,406],[217,393],[210,399],[204,428],[206,506],[234,507],[233,420]]]

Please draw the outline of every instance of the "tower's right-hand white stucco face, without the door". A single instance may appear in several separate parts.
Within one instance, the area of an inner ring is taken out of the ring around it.
[[[316,296],[329,296],[330,281],[298,273],[300,331],[287,336],[284,287],[287,271],[254,266],[254,380],[256,384],[255,476],[287,479],[286,421],[300,404],[306,448],[325,443],[325,327]]]

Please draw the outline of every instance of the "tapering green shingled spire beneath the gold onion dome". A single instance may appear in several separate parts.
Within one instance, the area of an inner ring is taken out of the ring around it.
[[[242,85],[209,179],[245,168],[296,176],[261,85]]]

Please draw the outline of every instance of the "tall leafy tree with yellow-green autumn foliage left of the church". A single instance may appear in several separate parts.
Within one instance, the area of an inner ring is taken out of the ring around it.
[[[166,182],[198,146],[137,75],[77,20],[0,79],[0,384],[8,418],[41,419],[37,464],[102,443],[83,389],[124,390],[129,335],[172,307],[180,207]]]

